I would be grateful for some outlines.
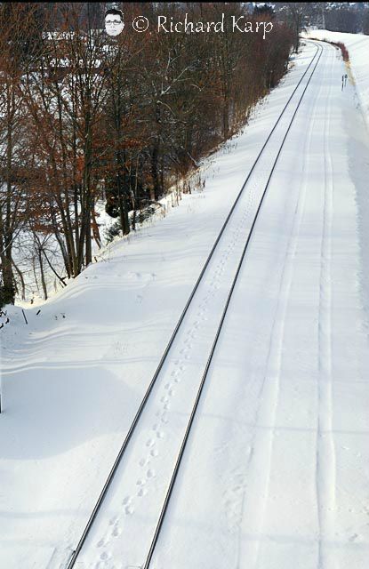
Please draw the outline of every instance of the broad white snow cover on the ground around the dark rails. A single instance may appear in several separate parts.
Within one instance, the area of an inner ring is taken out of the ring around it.
[[[8,307],[1,566],[67,566],[221,224],[315,51],[309,44],[245,132],[205,161],[204,191],[110,245],[67,289],[26,310],[28,325]],[[156,569],[366,567],[369,296],[359,221],[369,141],[354,86],[341,92],[343,72],[325,45],[229,306]],[[229,247],[242,235],[240,221]],[[79,569],[132,567],[119,553],[140,541],[129,528],[154,523],[158,473],[172,466],[166,443],[186,419],[187,369],[193,379],[229,251],[160,388],[157,421],[140,431],[138,461],[136,451],[127,456],[126,487]]]

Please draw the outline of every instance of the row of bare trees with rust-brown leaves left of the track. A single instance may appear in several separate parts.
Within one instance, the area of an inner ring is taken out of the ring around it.
[[[45,270],[60,284],[78,275],[92,241],[100,246],[99,200],[127,234],[128,212],[156,203],[285,73],[292,34],[276,20],[265,39],[228,24],[219,34],[132,30],[136,15],[155,22],[158,10],[184,15],[180,3],[127,3],[112,39],[100,3],[1,4],[0,306],[24,296],[32,262],[45,297]],[[241,3],[185,12],[193,21],[224,12],[227,23],[247,15]]]

